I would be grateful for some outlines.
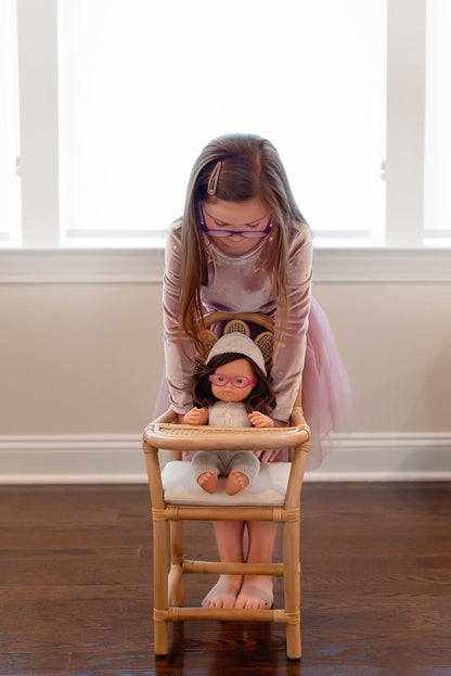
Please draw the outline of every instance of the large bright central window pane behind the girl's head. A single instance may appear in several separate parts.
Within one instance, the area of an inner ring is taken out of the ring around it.
[[[149,245],[214,137],[279,149],[317,243],[383,243],[382,0],[60,0],[66,245]]]

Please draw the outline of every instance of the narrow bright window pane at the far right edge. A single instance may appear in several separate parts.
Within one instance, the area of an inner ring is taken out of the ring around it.
[[[425,243],[451,244],[451,3],[427,0]]]

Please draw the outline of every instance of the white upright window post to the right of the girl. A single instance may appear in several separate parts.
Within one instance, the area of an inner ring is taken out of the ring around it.
[[[423,243],[425,24],[426,0],[388,1],[386,246]]]

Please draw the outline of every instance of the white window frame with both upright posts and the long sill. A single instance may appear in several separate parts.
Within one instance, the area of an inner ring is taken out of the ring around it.
[[[451,250],[422,247],[426,0],[387,14],[386,246],[319,248],[317,281],[451,279]],[[158,250],[59,248],[56,0],[17,0],[17,22],[23,250],[0,251],[0,281],[159,280]]]

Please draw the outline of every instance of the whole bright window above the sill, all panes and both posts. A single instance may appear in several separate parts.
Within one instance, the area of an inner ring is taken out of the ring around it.
[[[3,0],[0,246],[160,246],[231,130],[274,142],[317,247],[451,245],[447,0],[218,11]]]

